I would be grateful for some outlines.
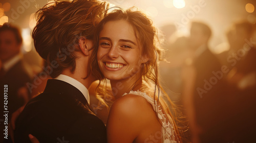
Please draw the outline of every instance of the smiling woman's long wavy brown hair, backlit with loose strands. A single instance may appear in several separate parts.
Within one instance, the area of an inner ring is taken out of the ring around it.
[[[147,86],[147,89],[152,89],[153,86],[153,89],[155,89],[154,99],[157,101],[157,104],[155,104],[155,108],[158,108],[159,103],[165,108],[165,112],[174,119],[176,133],[179,136],[179,132],[182,132],[183,128],[178,129],[178,126],[176,124],[179,122],[178,118],[181,117],[181,112],[178,110],[175,104],[170,101],[168,95],[159,84],[158,62],[159,60],[162,60],[160,57],[163,50],[160,47],[160,40],[158,38],[157,29],[153,26],[153,22],[150,18],[147,18],[144,13],[138,11],[137,9],[134,9],[135,8],[130,8],[125,11],[121,8],[115,9],[112,12],[108,13],[97,25],[95,32],[95,48],[93,51],[93,58],[91,59],[90,64],[91,68],[93,69],[93,74],[98,79],[105,81],[104,76],[102,75],[102,73],[100,73],[97,61],[99,33],[103,29],[104,24],[108,21],[115,20],[125,20],[129,22],[131,26],[133,26],[134,33],[139,45],[142,47],[141,55],[146,55],[149,58],[149,60],[141,67],[141,77],[144,85]],[[98,87],[100,88],[100,90],[97,90],[98,93],[96,94],[103,95],[103,98],[108,96],[108,94],[106,94],[106,91],[109,90],[106,89],[107,87],[105,82],[103,82],[103,84]],[[172,121],[172,119],[170,119],[170,121]]]

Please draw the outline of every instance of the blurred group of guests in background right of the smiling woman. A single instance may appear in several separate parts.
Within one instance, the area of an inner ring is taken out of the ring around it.
[[[234,22],[226,32],[228,51],[218,54],[209,49],[211,29],[203,21],[191,22],[189,37],[166,37],[162,82],[182,106],[192,142],[253,140],[255,32],[246,20]]]

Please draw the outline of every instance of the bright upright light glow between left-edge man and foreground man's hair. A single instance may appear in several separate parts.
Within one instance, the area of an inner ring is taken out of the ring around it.
[[[23,49],[26,52],[30,52],[32,50],[32,37],[30,35],[30,28],[22,29],[22,38],[23,38]]]

